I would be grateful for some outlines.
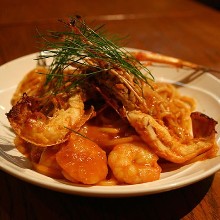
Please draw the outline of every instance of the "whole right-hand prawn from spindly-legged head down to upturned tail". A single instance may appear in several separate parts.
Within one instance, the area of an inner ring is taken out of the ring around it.
[[[124,70],[111,69],[102,77],[96,77],[95,84],[106,102],[129,121],[158,156],[171,162],[184,163],[214,147],[215,120],[205,117],[206,125],[211,124],[211,132],[199,138],[191,137],[190,129],[180,126],[170,101],[163,100],[156,90]],[[151,84],[153,87],[154,83]],[[169,111],[172,117],[171,125],[163,119],[165,111]],[[198,114],[198,118],[204,119],[201,113]],[[184,120],[187,124],[192,122],[190,113]]]

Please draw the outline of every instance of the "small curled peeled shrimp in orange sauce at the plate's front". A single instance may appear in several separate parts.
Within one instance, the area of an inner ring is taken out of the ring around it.
[[[120,183],[138,184],[158,180],[158,156],[144,142],[118,144],[108,156],[108,165]]]

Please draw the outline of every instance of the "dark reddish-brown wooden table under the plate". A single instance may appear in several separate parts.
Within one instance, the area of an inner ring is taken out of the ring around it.
[[[38,51],[36,29],[80,14],[128,35],[127,46],[220,70],[220,13],[197,1],[1,1],[0,64]],[[0,172],[0,219],[220,219],[220,172],[181,189],[133,198],[54,192]]]

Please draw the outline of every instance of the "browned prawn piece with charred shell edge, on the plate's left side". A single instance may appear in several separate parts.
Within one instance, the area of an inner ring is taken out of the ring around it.
[[[92,110],[85,114],[80,92],[69,98],[54,96],[43,106],[41,99],[25,94],[6,114],[15,133],[37,146],[65,142],[70,129],[77,131],[92,116]]]

